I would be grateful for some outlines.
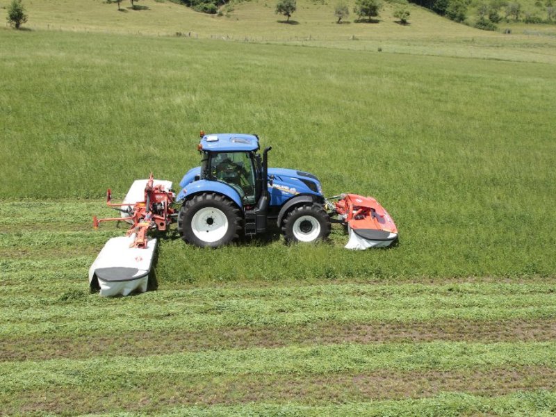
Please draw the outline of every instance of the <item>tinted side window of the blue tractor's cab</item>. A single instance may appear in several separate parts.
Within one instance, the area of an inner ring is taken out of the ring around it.
[[[249,152],[222,152],[211,158],[211,177],[236,190],[245,204],[255,202],[255,173]]]

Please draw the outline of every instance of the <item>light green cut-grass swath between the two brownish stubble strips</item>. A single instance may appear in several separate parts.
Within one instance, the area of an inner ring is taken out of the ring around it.
[[[205,350],[148,357],[93,357],[0,363],[4,395],[27,390],[131,387],[149,375],[198,379],[224,375],[325,375],[373,370],[468,370],[556,367],[554,342],[386,343]]]

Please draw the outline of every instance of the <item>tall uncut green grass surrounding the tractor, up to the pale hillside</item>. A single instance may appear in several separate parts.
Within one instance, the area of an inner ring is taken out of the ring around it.
[[[395,250],[365,253],[343,250],[340,229],[316,247],[271,240],[207,251],[171,238],[157,268],[165,279],[556,270],[553,65],[90,33],[1,37],[3,199],[97,197],[100,210],[108,186],[124,195],[150,171],[179,181],[198,163],[199,129],[242,131],[274,146],[272,165],[318,175],[327,195],[373,195],[400,229]],[[87,209],[82,218],[95,213]]]

